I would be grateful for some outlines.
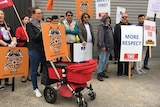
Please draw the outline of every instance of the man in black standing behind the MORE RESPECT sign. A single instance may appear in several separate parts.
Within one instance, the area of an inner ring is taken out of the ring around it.
[[[117,56],[118,56],[118,70],[117,70],[117,76],[121,77],[123,75],[128,75],[128,62],[122,62],[120,61],[120,52],[121,52],[121,25],[131,25],[131,23],[128,22],[128,13],[123,13],[121,17],[121,22],[119,24],[116,24],[114,28],[114,39],[115,39],[115,47],[117,48]],[[123,66],[124,65],[124,66]],[[132,74],[131,74],[132,76]]]

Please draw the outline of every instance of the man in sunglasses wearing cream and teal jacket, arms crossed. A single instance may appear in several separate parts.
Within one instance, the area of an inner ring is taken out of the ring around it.
[[[73,20],[73,13],[71,11],[66,12],[66,19],[63,21],[66,32],[67,43],[75,43],[76,35],[78,34],[78,25]]]

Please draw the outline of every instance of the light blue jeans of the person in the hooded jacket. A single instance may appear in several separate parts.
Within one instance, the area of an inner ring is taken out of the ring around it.
[[[101,73],[106,69],[106,65],[109,61],[110,51],[100,51],[99,52],[99,62],[97,73]]]

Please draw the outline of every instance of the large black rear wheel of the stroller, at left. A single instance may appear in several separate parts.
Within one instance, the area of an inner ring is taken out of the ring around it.
[[[48,103],[55,103],[57,100],[57,91],[52,86],[46,86],[44,89],[44,98]]]

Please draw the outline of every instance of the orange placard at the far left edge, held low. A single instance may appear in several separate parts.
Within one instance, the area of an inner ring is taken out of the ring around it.
[[[25,47],[0,47],[0,78],[28,75],[28,49]]]

